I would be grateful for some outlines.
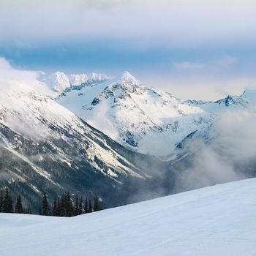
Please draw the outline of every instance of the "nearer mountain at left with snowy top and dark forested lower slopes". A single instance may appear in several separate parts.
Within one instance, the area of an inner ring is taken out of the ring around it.
[[[98,193],[106,206],[124,203],[130,194],[123,181],[149,178],[155,162],[23,84],[1,89],[0,148],[0,186],[18,190],[33,206],[44,189],[50,197],[69,189]]]

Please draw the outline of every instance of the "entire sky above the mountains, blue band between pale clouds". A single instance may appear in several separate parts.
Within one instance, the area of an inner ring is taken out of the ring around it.
[[[183,99],[256,89],[251,0],[0,0],[0,31],[17,69],[127,70]]]

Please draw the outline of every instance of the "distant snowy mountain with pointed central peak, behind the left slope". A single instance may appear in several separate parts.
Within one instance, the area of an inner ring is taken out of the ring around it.
[[[217,102],[184,101],[125,72],[121,78],[73,88],[56,101],[118,143],[170,159],[184,138],[205,132],[227,108],[244,108],[250,97],[244,93]]]

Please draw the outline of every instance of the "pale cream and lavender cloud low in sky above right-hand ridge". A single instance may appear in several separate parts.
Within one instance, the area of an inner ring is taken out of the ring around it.
[[[167,75],[154,74],[154,77],[145,77],[145,82],[181,99],[215,101],[255,89],[256,76],[248,67],[246,61],[234,56],[209,57],[207,61],[173,61]]]

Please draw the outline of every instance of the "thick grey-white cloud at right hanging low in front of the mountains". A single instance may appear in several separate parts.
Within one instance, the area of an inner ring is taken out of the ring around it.
[[[189,142],[191,167],[180,172],[177,191],[236,181],[256,170],[256,114],[254,110],[227,111],[209,133],[210,140]]]

